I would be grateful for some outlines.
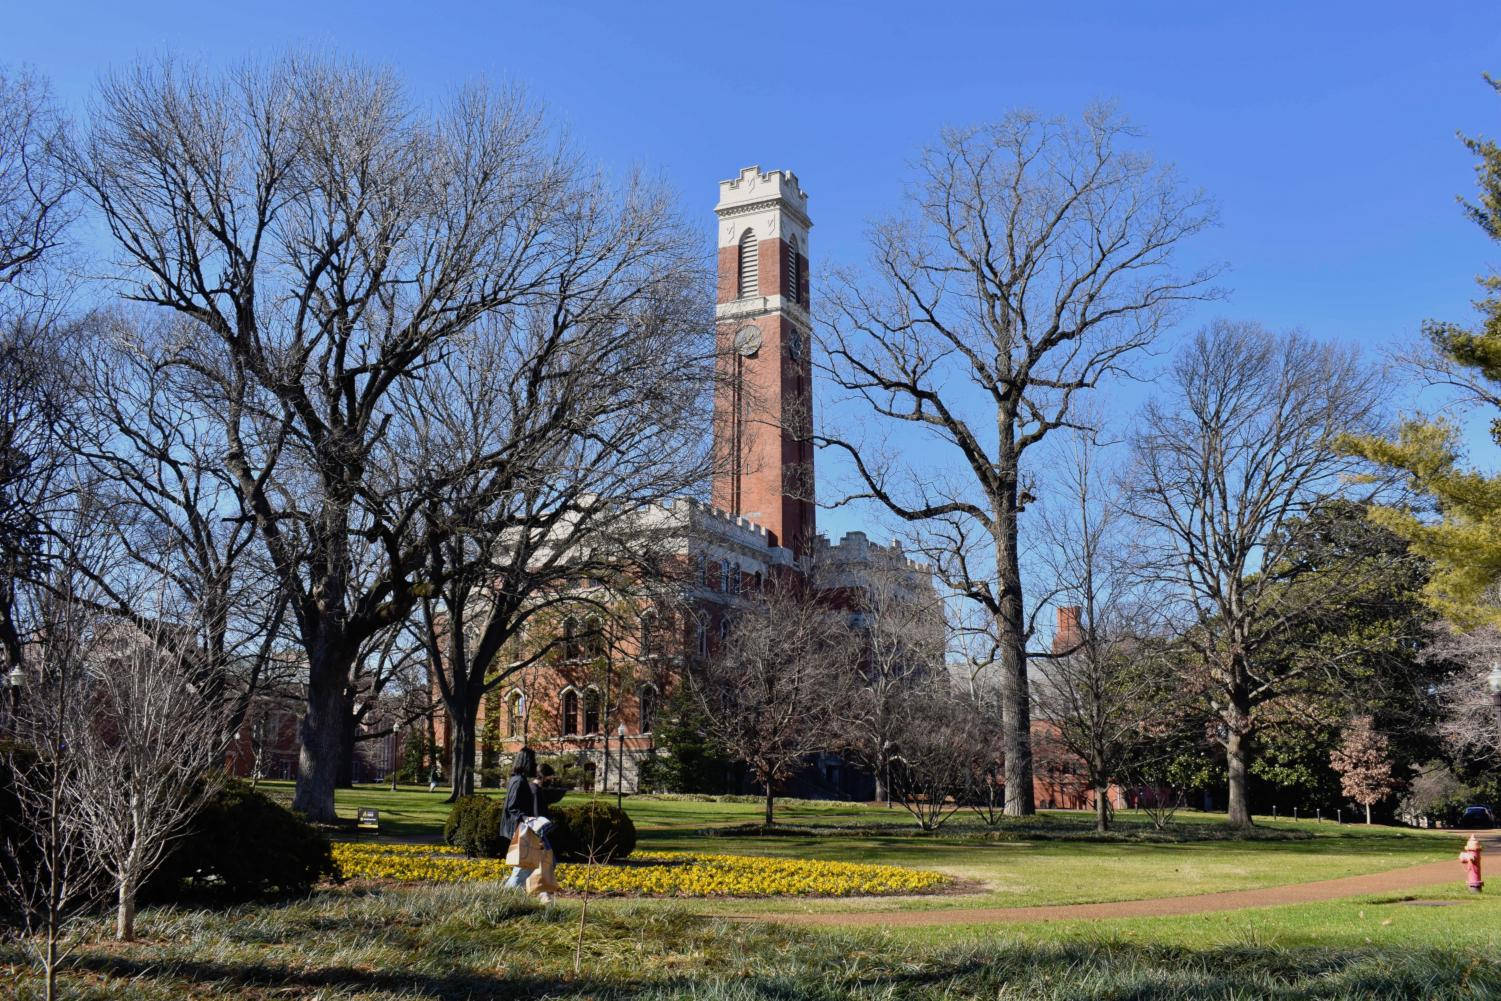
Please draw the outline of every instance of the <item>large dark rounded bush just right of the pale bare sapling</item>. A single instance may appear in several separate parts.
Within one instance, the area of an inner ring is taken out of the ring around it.
[[[155,900],[225,902],[305,894],[338,870],[329,839],[248,783],[209,800],[147,884]]]

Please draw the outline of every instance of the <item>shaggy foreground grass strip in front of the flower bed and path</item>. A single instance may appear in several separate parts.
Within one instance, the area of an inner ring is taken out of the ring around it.
[[[1450,894],[1453,896],[1453,894]],[[1501,996],[1501,902],[1339,902],[998,929],[793,929],[633,903],[551,909],[494,884],[353,891],[227,912],[147,909],[143,941],[77,948],[81,1001],[1409,1001]],[[39,996],[14,945],[0,983]]]

